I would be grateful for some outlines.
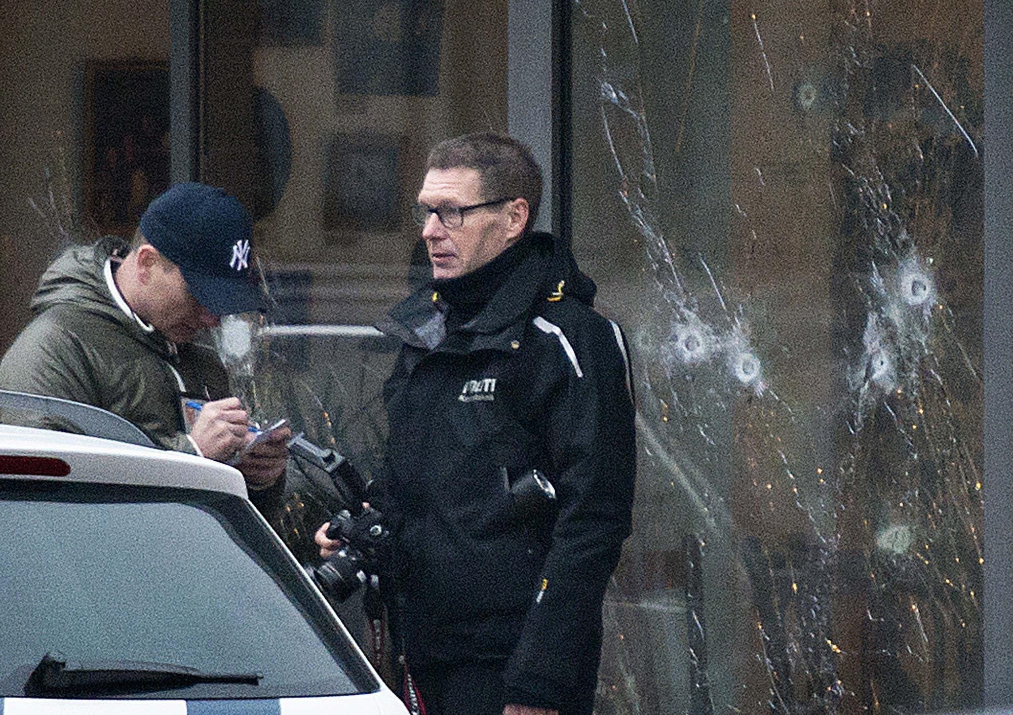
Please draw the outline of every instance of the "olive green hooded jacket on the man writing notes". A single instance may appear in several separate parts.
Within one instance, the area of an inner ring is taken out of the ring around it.
[[[114,270],[125,249],[114,238],[73,246],[46,269],[31,300],[35,317],[0,362],[0,389],[101,407],[155,444],[193,454],[181,399],[228,396],[227,374],[208,347],[171,343],[116,304],[105,265]]]

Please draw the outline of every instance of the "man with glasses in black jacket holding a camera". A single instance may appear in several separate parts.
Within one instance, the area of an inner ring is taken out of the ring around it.
[[[431,715],[594,707],[602,599],[630,532],[633,397],[594,283],[565,241],[530,230],[541,190],[510,137],[438,145],[412,209],[433,281],[380,326],[402,346],[371,494]],[[323,528],[317,543],[339,546]]]

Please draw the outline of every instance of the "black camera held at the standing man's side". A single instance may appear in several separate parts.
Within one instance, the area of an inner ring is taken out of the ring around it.
[[[342,541],[344,546],[312,569],[317,585],[338,601],[345,601],[361,585],[378,577],[389,536],[383,514],[373,507],[355,515],[348,509],[338,511],[330,520],[327,538]]]

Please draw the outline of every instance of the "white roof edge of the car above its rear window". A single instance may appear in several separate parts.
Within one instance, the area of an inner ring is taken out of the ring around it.
[[[69,471],[54,474],[50,469],[32,467],[35,463],[18,460],[18,457],[60,460]],[[239,471],[214,460],[114,440],[11,424],[0,424],[0,475],[247,495]]]

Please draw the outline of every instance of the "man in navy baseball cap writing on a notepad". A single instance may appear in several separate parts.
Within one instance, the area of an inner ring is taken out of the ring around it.
[[[67,249],[0,361],[0,389],[95,405],[165,449],[235,462],[254,503],[275,502],[290,433],[242,451],[248,414],[215,352],[191,342],[221,316],[261,309],[251,238],[234,196],[190,182],[151,203],[129,246],[105,237]]]

